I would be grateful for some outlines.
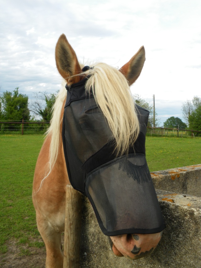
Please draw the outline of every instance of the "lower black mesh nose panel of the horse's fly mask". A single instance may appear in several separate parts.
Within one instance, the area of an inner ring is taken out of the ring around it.
[[[85,188],[106,235],[155,233],[164,227],[143,154],[122,156],[98,167],[86,178]]]

